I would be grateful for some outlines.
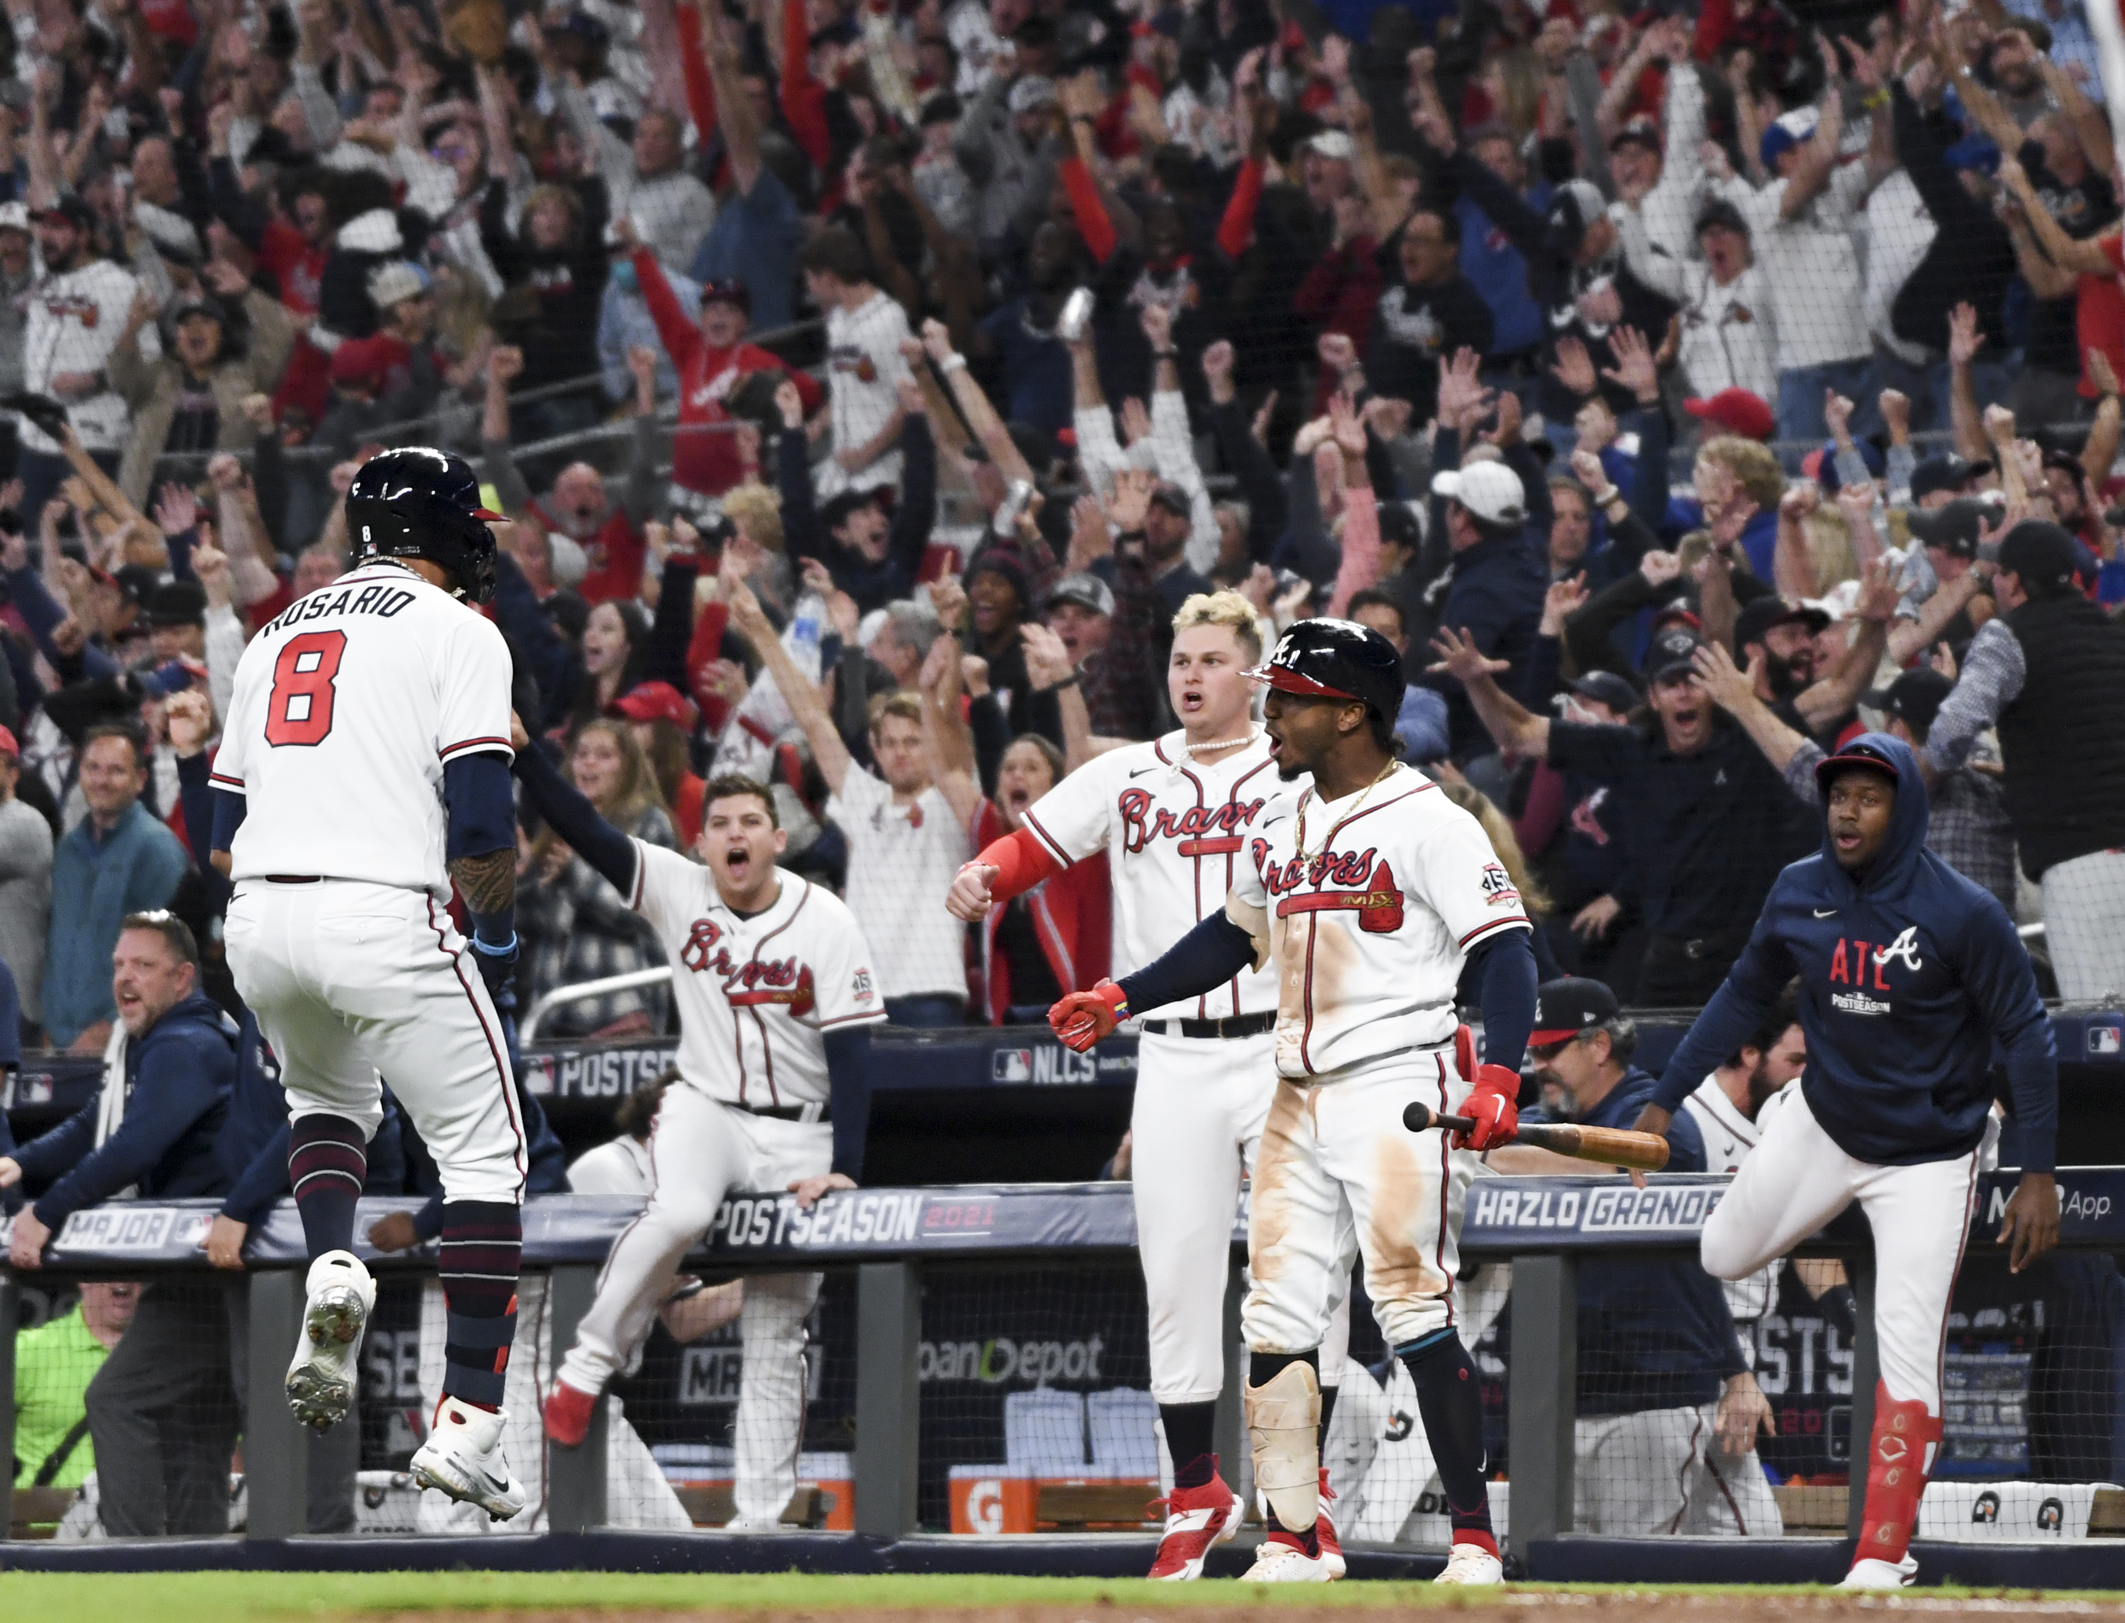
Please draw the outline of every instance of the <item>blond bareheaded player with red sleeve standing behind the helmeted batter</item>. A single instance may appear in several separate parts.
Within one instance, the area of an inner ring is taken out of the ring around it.
[[[1186,599],[1173,616],[1167,667],[1179,731],[1096,756],[1056,784],[1026,809],[1018,833],[958,871],[946,907],[982,920],[1071,862],[1107,852],[1116,958],[1124,967],[1141,969],[1218,913],[1239,879],[1247,835],[1281,792],[1245,678],[1260,656],[1245,597]],[[1150,1296],[1152,1396],[1173,1457],[1154,1578],[1201,1578],[1209,1549],[1232,1538],[1243,1519],[1218,1474],[1211,1434],[1224,1389],[1232,1211],[1277,1086],[1275,1009],[1277,977],[1254,967],[1198,996],[1139,1007],[1130,1190]],[[1324,1434],[1349,1340],[1347,1315],[1337,1330],[1322,1366]],[[1322,1547],[1339,1566],[1326,1519]]]

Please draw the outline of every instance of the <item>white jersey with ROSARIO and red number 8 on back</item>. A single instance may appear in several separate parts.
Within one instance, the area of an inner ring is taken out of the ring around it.
[[[242,795],[232,877],[319,873],[436,896],[442,769],[510,756],[510,650],[493,622],[370,561],[280,610],[236,665],[215,788]]]

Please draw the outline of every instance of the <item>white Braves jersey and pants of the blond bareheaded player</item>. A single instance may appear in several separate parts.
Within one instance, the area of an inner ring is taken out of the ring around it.
[[[1107,852],[1114,875],[1114,975],[1130,975],[1224,907],[1245,837],[1281,795],[1269,741],[1196,763],[1188,735],[1167,733],[1092,758],[1026,812],[1048,854],[1077,862]],[[1237,975],[1216,992],[1135,1009],[1137,1096],[1130,1190],[1150,1296],[1152,1396],[1211,1402],[1224,1389],[1224,1283],[1239,1183],[1254,1171],[1275,1094],[1273,1035],[1184,1035],[1182,1022],[1266,1018],[1277,977]],[[1160,1030],[1162,1028],[1162,1030]],[[1322,1383],[1343,1374],[1345,1334],[1322,1349]]]

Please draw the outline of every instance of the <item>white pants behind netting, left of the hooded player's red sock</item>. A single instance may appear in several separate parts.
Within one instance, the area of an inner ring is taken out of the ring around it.
[[[1572,1530],[1781,1538],[1764,1464],[1719,1451],[1719,1404],[1572,1421]]]

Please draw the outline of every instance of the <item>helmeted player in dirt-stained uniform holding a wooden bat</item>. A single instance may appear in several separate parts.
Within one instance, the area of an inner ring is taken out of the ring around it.
[[[1441,1583],[1498,1583],[1483,1487],[1483,1417],[1462,1347],[1454,1275],[1475,1156],[1513,1137],[1519,1056],[1534,1020],[1534,952],[1519,892],[1481,824],[1394,758],[1400,661],[1377,631],[1300,620],[1269,665],[1264,707],[1277,775],[1311,784],[1254,818],[1232,890],[1182,941],[1122,984],[1050,1009],[1071,1047],[1090,1047],[1135,1007],[1169,1007],[1277,967],[1277,1092],[1262,1126],[1247,1217],[1254,1287],[1247,1436],[1269,1500],[1269,1538],[1247,1578],[1322,1583],[1318,1536],[1318,1349],[1364,1260],[1388,1345],[1451,1504]],[[1490,1062],[1477,1066],[1454,1015],[1462,964],[1477,960]],[[1475,1120],[1466,1143],[1405,1132],[1422,1098]]]

